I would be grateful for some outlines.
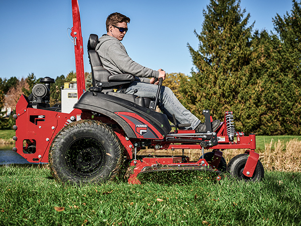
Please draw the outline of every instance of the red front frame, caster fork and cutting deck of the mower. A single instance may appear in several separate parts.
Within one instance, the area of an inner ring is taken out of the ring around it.
[[[256,149],[256,140],[255,140],[255,135],[250,134],[249,136],[244,136],[243,133],[239,134],[237,133],[236,135],[236,142],[230,142],[228,135],[227,135],[227,127],[226,127],[226,117],[224,119],[224,122],[221,124],[221,126],[217,129],[217,137],[218,138],[224,138],[222,141],[218,141],[218,145],[213,146],[213,147],[207,147],[206,150],[218,150],[218,149],[248,149],[245,153],[249,154],[249,158],[247,159],[246,165],[244,167],[243,174],[247,177],[252,177],[254,170],[256,168],[258,159],[259,159],[259,154],[255,153]],[[176,134],[179,135],[185,135],[187,133],[193,133],[194,131],[187,131],[187,130],[178,130]],[[119,137],[119,136],[118,136]],[[120,138],[119,138],[120,139]],[[198,140],[198,139],[196,139]],[[132,147],[134,146],[131,142],[130,144]],[[122,142],[124,145],[124,142]],[[160,141],[160,140],[152,140],[152,145],[160,145],[161,147],[158,150],[163,150],[163,149],[202,149],[202,146],[200,144],[172,144],[171,142],[168,141]],[[128,147],[128,145],[126,146]],[[127,156],[129,156],[130,159],[133,159],[132,156],[132,148],[129,150],[126,148],[127,151]],[[130,151],[130,152],[129,152]],[[215,151],[214,152],[214,158],[215,161],[211,163],[211,167],[213,169],[217,168],[217,166],[220,163],[222,157],[222,152],[221,151]],[[174,162],[173,157],[154,157],[154,158],[142,158],[142,161],[140,160],[132,160],[130,163],[130,166],[135,166],[133,170],[133,174],[130,175],[128,179],[128,183],[132,184],[139,184],[140,181],[137,179],[137,175],[139,172],[143,170],[144,167],[152,167],[156,164],[161,164],[161,165],[168,165],[168,166],[175,166],[175,165],[194,165],[194,166],[207,166],[208,163],[205,159],[199,159],[197,162],[193,161],[188,161],[187,163],[182,163],[182,162]],[[203,161],[203,163],[202,163]]]

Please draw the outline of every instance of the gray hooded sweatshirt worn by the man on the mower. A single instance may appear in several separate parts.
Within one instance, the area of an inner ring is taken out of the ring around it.
[[[103,67],[112,74],[129,73],[140,77],[141,81],[148,82],[146,78],[158,78],[159,71],[144,67],[133,61],[126,53],[122,43],[109,35],[103,35],[99,39],[95,50],[97,51]]]

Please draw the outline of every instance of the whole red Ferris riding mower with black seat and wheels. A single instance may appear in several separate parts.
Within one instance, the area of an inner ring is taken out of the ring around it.
[[[190,125],[170,125],[167,116],[155,111],[156,99],[114,92],[118,85],[134,80],[131,74],[110,74],[102,67],[95,47],[98,36],[91,34],[88,55],[93,87],[85,91],[83,44],[77,0],[72,0],[77,83],[62,87],[62,103],[49,105],[51,78],[41,79],[29,97],[22,95],[17,103],[16,147],[14,151],[29,162],[49,162],[53,176],[63,182],[103,182],[114,178],[125,159],[130,162],[129,183],[140,183],[138,175],[160,171],[229,172],[233,177],[258,181],[264,170],[255,153],[255,135],[235,131],[231,111],[212,131],[209,110],[203,110],[206,132],[184,130]],[[75,99],[74,99],[75,98]],[[77,98],[79,98],[77,100]],[[74,101],[73,107],[64,107]],[[64,105],[64,106],[62,106]],[[175,130],[172,131],[172,127]],[[181,156],[139,156],[141,149],[182,150]],[[202,150],[198,161],[190,161],[185,149]],[[224,149],[247,149],[235,156],[228,166],[222,156]],[[205,152],[206,151],[206,152]],[[208,152],[209,151],[209,152]]]

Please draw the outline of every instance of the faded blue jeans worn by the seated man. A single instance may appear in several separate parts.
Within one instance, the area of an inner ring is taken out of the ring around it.
[[[134,91],[136,93],[134,93]],[[140,97],[156,98],[158,85],[133,81],[124,93],[135,94]],[[182,103],[175,96],[174,92],[166,86],[162,86],[161,95],[159,96],[159,108],[167,115],[167,118],[173,123],[173,114],[178,123],[190,124],[189,128],[195,129],[201,121],[195,117],[189,110],[187,110]],[[188,129],[188,128],[186,128]]]

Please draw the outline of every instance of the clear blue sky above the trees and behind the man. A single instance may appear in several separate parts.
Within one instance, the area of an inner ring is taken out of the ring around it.
[[[90,72],[87,40],[91,33],[106,33],[106,17],[119,12],[131,19],[122,43],[137,63],[167,73],[190,75],[189,43],[198,48],[198,33],[209,0],[78,0],[84,41],[84,67]],[[273,30],[272,18],[292,8],[290,0],[241,0],[254,29]],[[75,71],[71,0],[0,0],[0,77],[56,78]]]

